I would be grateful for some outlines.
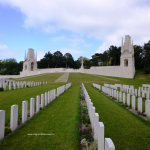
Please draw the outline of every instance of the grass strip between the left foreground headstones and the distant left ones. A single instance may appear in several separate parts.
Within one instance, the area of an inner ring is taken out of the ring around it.
[[[22,112],[22,101],[28,101],[28,110],[30,109],[30,98],[36,98],[37,95],[44,94],[47,91],[56,89],[63,85],[62,83],[47,84],[29,88],[21,88],[16,90],[0,92],[0,110],[5,110],[5,123],[10,123],[10,108],[17,104],[19,114]]]

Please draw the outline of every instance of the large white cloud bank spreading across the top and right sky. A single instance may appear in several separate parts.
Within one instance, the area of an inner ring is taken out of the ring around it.
[[[103,41],[96,52],[102,52],[110,45],[120,46],[121,38],[128,34],[138,45],[150,40],[149,0],[0,0],[0,2],[19,8],[25,16],[26,28],[36,28],[47,33],[67,30]],[[64,37],[60,39],[68,40]],[[70,39],[70,42],[76,45],[83,42],[78,38],[73,40],[75,41]]]

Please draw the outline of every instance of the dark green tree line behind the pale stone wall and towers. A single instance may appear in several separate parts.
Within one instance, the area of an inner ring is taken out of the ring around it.
[[[111,45],[103,53],[95,53],[91,59],[83,57],[84,68],[91,66],[119,66],[121,47]],[[74,68],[81,67],[81,56],[74,60],[70,53],[62,54],[56,51],[53,54],[48,51],[44,57],[37,62],[38,68]],[[150,41],[144,46],[134,45],[135,69],[150,73]],[[23,61],[17,63],[15,59],[0,60],[0,74],[19,74],[23,68]]]

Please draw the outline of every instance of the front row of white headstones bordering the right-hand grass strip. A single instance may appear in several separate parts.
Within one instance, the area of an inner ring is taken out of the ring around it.
[[[96,85],[95,83],[93,84],[93,87],[97,88],[98,85]],[[123,104],[125,105],[126,103],[126,98],[127,98],[127,105],[130,107],[130,101],[131,101],[131,107],[132,109],[136,109],[136,95],[131,95],[131,94],[127,94],[125,92],[122,91],[117,91],[114,88],[111,88],[110,86],[104,84],[104,86],[102,86],[102,92],[107,94],[108,96],[117,99],[120,102],[123,102]],[[149,97],[148,97],[149,98]],[[140,112],[142,111],[142,98],[138,97],[137,98],[137,110]],[[150,117],[150,100],[147,99],[145,100],[145,114],[147,115],[147,117]]]

